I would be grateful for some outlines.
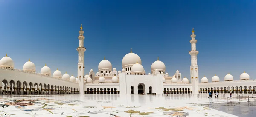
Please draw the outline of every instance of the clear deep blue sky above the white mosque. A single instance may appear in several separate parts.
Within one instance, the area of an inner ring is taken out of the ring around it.
[[[106,59],[122,70],[122,57],[138,54],[148,74],[157,60],[166,72],[190,75],[195,28],[200,79],[246,71],[256,79],[254,0],[0,0],[0,56],[22,69],[47,63],[52,73],[77,76],[78,31],[84,28],[85,73]]]

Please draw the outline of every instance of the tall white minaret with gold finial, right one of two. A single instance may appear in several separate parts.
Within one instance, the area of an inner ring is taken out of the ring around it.
[[[192,29],[191,34],[191,51],[189,51],[189,54],[191,55],[191,66],[190,66],[190,81],[192,83],[192,93],[198,94],[198,83],[199,83],[199,75],[198,75],[198,65],[197,65],[197,54],[198,51],[196,50],[196,43],[197,40],[195,40],[195,31],[194,28]]]

